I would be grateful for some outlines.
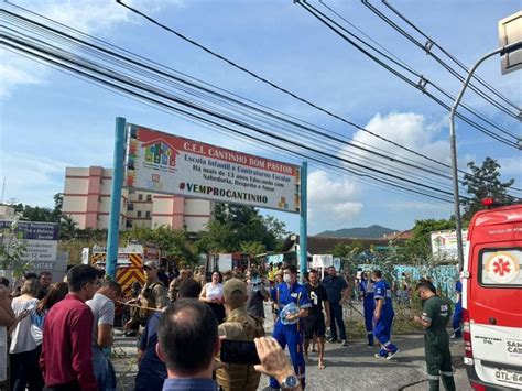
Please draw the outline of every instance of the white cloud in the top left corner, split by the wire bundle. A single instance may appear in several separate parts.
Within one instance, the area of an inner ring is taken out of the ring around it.
[[[132,6],[133,1],[127,3]],[[144,22],[112,0],[17,1],[17,4],[93,35],[108,35],[121,23]],[[137,7],[145,13],[154,14],[168,4],[183,6],[183,1],[149,0],[139,2]],[[15,8],[11,11],[23,14],[23,11]],[[31,14],[28,17],[34,18]],[[18,86],[44,84],[50,75],[48,67],[6,50],[0,50],[0,99],[9,98]]]

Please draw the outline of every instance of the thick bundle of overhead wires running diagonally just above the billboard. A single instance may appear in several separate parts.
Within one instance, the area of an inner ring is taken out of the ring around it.
[[[189,78],[63,24],[51,23],[52,28],[48,19],[40,23],[4,10],[1,17],[6,25],[2,25],[0,42],[17,53],[206,127],[247,138],[257,145],[290,152],[328,170],[368,178],[379,186],[384,184],[395,191],[450,202],[449,183],[444,181],[448,176],[426,164],[383,155],[370,145],[327,134],[322,128]],[[389,161],[402,165],[400,173],[391,170]]]

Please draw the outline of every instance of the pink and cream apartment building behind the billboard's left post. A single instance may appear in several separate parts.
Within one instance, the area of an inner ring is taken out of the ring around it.
[[[73,217],[77,228],[108,227],[112,170],[99,166],[65,170],[63,214]],[[123,189],[120,229],[170,226],[189,232],[205,230],[214,213],[214,204],[134,189]]]

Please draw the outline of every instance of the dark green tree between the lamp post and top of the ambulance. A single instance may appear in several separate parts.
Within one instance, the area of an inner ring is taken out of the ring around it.
[[[497,203],[509,204],[513,202],[513,197],[508,194],[509,188],[513,185],[514,180],[508,182],[500,181],[500,164],[491,158],[486,158],[481,166],[469,162],[470,173],[464,174],[463,185],[467,187],[467,193],[471,199],[464,202],[463,218],[469,221],[471,217],[483,208],[481,200],[492,197]]]

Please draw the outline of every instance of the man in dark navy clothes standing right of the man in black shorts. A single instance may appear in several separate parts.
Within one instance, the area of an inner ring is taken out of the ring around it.
[[[337,343],[337,327],[339,328],[339,337],[342,346],[347,346],[345,321],[342,319],[342,302],[346,302],[350,290],[345,279],[337,275],[334,267],[328,268],[328,275],[322,282],[328,295],[330,306],[330,338],[329,343]]]

